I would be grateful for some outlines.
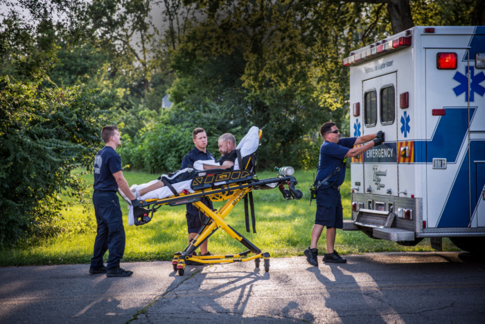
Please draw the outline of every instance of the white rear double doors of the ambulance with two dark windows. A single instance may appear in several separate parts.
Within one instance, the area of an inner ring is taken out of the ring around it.
[[[363,154],[364,192],[383,196],[398,196],[397,163],[397,72],[362,82],[363,135],[385,133],[385,143]],[[368,202],[367,208],[384,210],[378,202]]]

